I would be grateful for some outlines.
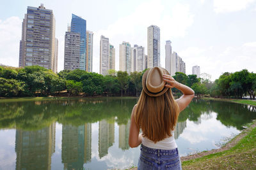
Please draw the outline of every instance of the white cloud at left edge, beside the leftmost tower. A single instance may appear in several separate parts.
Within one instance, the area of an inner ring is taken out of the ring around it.
[[[19,66],[19,40],[22,20],[10,17],[0,20],[0,63],[8,66]]]

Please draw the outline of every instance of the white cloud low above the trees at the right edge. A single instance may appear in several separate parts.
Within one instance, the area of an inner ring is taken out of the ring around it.
[[[192,67],[200,66],[201,73],[212,75],[212,81],[219,78],[222,73],[248,69],[256,72],[256,41],[244,43],[240,46],[227,46],[221,49],[218,46],[200,48],[191,46],[179,52],[182,60],[186,62],[186,74],[192,73]]]

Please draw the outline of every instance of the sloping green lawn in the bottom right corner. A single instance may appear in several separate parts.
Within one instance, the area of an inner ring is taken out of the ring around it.
[[[255,169],[256,127],[236,146],[223,152],[182,162],[182,169]]]

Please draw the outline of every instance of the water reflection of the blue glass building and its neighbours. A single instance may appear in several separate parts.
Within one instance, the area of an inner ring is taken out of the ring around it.
[[[83,169],[92,159],[92,124],[62,126],[61,159],[64,169]]]

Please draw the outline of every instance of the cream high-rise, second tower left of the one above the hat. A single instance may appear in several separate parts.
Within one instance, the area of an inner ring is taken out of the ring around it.
[[[119,45],[119,70],[131,73],[131,45],[125,41]]]

